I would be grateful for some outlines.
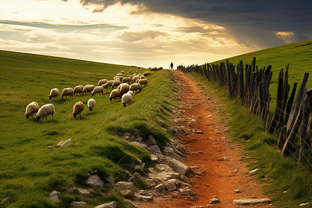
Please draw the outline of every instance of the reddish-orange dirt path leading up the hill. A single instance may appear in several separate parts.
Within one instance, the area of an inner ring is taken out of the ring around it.
[[[265,198],[261,195],[260,185],[245,174],[248,168],[241,161],[241,146],[232,142],[229,130],[217,115],[218,110],[223,108],[222,103],[216,97],[206,95],[184,73],[173,71],[173,74],[180,95],[180,105],[175,108],[174,122],[178,127],[183,126],[186,131],[177,134],[177,139],[187,149],[184,163],[198,166],[203,173],[190,177],[191,189],[197,194],[194,200],[169,193],[169,196],[155,198],[153,202],[141,203],[139,207],[205,207],[214,196],[218,197],[220,204],[209,206],[235,207],[235,199]],[[194,133],[191,131],[193,129],[202,133]],[[220,161],[224,157],[227,159]],[[235,189],[240,189],[241,193],[235,193]]]

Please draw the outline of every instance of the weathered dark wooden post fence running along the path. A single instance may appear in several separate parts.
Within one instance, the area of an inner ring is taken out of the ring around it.
[[[312,116],[309,115],[312,113],[312,88],[305,89],[309,73],[304,73],[295,98],[297,83],[293,85],[288,97],[291,89],[288,85],[288,66],[285,73],[281,69],[275,111],[270,112],[271,66],[258,69],[256,58],[253,58],[252,64],[245,65],[245,80],[243,67],[243,61],[240,61],[235,71],[234,64],[226,61],[220,65],[193,64],[188,67],[178,66],[177,69],[187,73],[200,73],[209,82],[214,81],[221,87],[227,87],[230,98],[236,98],[252,114],[261,118],[266,132],[279,134],[277,148],[280,148],[281,155],[293,155],[298,166],[311,167]],[[306,150],[309,150],[309,154]]]

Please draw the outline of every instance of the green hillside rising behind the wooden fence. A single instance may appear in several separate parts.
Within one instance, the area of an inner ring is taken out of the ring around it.
[[[259,69],[272,65],[273,76],[270,84],[270,94],[273,103],[275,103],[274,100],[277,97],[279,70],[284,69],[285,72],[288,63],[288,84],[291,85],[291,89],[293,89],[293,83],[298,83],[297,90],[299,89],[304,73],[310,73],[306,89],[312,87],[312,40],[237,55],[228,58],[228,60],[234,65],[237,65],[240,60],[243,60],[243,64],[251,64],[254,57],[256,57],[256,65]],[[225,62],[225,60],[219,60],[211,64],[219,64],[220,62]],[[270,107],[275,107],[275,105],[270,105]]]

